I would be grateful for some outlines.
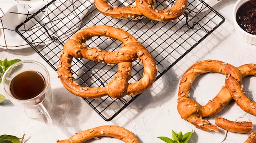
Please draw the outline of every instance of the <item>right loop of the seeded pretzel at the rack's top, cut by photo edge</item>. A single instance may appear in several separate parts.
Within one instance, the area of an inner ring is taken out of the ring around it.
[[[159,10],[155,8],[156,0],[136,0],[139,11],[150,20],[159,22],[171,21],[180,17],[186,10],[187,0],[176,0],[174,6],[169,9]]]

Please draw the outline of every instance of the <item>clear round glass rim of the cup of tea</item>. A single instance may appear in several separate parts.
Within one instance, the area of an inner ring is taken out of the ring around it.
[[[49,84],[50,84],[50,74],[49,74],[49,71],[47,70],[47,68],[42,64],[42,63],[39,63],[38,61],[34,61],[34,60],[23,60],[23,61],[18,61],[17,63],[14,63],[13,65],[11,65],[10,67],[8,67],[6,69],[6,71],[8,71],[9,69],[13,68],[13,67],[16,67],[17,65],[20,65],[22,63],[35,63],[37,65],[39,65],[40,67],[43,67],[43,69],[45,70],[45,72],[47,73],[47,83],[45,84],[45,88],[43,89],[43,91],[41,93],[39,93],[38,95],[36,95],[34,98],[29,98],[29,99],[26,99],[26,100],[21,100],[21,99],[17,99],[17,98],[14,98],[13,96],[10,96],[7,91],[4,89],[4,84],[3,84],[3,81],[2,81],[2,89],[4,91],[4,93],[11,99],[13,100],[16,100],[16,101],[19,101],[19,102],[29,102],[31,100],[34,100],[36,98],[38,98],[40,95],[42,95],[45,91],[45,89],[47,87],[49,87]],[[7,72],[4,72],[4,74],[2,75],[2,80],[7,76]]]

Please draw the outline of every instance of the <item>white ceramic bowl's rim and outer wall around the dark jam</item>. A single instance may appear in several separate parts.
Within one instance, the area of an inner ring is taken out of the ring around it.
[[[243,30],[242,28],[240,28],[240,26],[238,25],[238,23],[236,22],[236,11],[238,10],[238,8],[243,5],[245,2],[247,2],[249,0],[238,0],[236,2],[236,4],[234,5],[233,8],[233,22],[234,22],[234,27],[235,30],[237,32],[237,34],[247,43],[251,43],[256,45],[256,35],[252,35],[248,32],[246,32],[245,30]]]

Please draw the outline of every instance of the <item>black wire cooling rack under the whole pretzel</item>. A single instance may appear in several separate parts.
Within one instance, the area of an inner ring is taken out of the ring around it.
[[[126,6],[134,1],[108,0],[108,3]],[[157,9],[172,5],[171,0],[157,1]],[[56,70],[65,41],[77,30],[95,25],[117,26],[138,38],[154,56],[159,79],[224,21],[222,15],[200,0],[188,2],[186,12],[173,22],[156,22],[146,17],[138,20],[112,19],[101,14],[95,8],[93,0],[53,0],[17,26],[16,31]],[[106,37],[93,37],[86,44],[112,52],[118,50],[122,43]],[[72,70],[74,78],[82,86],[103,87],[115,76],[117,65],[73,58]],[[135,61],[130,82],[139,80],[142,73],[143,66]],[[105,96],[84,100],[104,120],[110,121],[137,97],[138,95],[112,99]]]

